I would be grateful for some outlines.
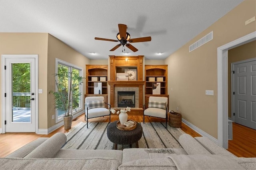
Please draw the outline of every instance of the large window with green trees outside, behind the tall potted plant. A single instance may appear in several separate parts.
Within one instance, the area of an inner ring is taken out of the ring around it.
[[[60,73],[65,73],[67,76],[63,77],[59,77],[58,76],[58,83],[61,84],[60,89],[56,89],[56,90],[61,90],[62,93],[64,93],[65,95],[68,95],[69,92],[69,88],[68,86],[70,86],[70,78],[68,78],[68,76],[70,76],[70,73],[72,73],[72,76],[83,76],[83,69],[79,68],[78,66],[75,66],[73,64],[67,63],[65,61],[61,61],[59,59],[56,59],[56,73],[60,74]],[[73,80],[74,81],[74,80]],[[72,82],[72,84],[74,84],[76,82]],[[77,111],[82,110],[82,96],[81,94],[83,94],[82,92],[82,85],[80,86],[76,86],[74,92],[71,94],[71,98],[72,98],[72,114],[76,113]],[[56,123],[59,121],[62,121],[62,117],[65,114],[64,109],[56,109]]]

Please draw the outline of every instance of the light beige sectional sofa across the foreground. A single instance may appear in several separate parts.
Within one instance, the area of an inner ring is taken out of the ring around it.
[[[0,169],[254,169],[256,158],[238,158],[206,137],[184,133],[179,149],[74,150],[61,149],[66,135],[38,138],[0,158]]]

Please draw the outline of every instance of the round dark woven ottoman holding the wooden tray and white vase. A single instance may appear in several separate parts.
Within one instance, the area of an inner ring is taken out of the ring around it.
[[[107,127],[107,136],[114,143],[114,149],[117,149],[117,145],[131,146],[133,143],[136,143],[136,148],[138,148],[138,141],[142,137],[143,132],[140,123],[137,123],[136,128],[131,131],[122,131],[116,127],[117,122],[114,121]]]

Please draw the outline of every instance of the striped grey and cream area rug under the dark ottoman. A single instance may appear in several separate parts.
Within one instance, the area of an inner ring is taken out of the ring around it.
[[[139,148],[181,148],[178,137],[184,133],[180,128],[174,128],[162,122],[140,123],[143,134],[138,141]],[[65,135],[67,142],[62,149],[113,149],[114,144],[107,137],[105,122],[80,122]],[[118,150],[130,148],[130,145],[118,145]],[[135,148],[135,144],[132,145]]]

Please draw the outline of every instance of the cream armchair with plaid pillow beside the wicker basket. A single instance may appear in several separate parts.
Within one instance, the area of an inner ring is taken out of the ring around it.
[[[168,98],[150,96],[148,103],[143,106],[143,112],[143,123],[145,116],[160,117],[166,119],[165,128],[167,128]]]

